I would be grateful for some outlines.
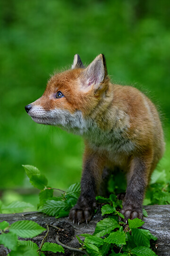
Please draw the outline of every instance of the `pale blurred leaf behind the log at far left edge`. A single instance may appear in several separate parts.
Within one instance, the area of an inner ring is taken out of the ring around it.
[[[16,212],[28,211],[29,209],[32,209],[32,208],[34,208],[34,205],[30,203],[13,201],[7,206],[3,205],[1,210],[3,213],[16,213]]]

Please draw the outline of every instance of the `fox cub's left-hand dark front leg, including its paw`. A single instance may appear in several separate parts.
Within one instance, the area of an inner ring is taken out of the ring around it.
[[[85,148],[81,193],[76,205],[70,210],[69,219],[78,224],[92,218],[95,208],[95,197],[101,182],[103,159],[100,155]]]

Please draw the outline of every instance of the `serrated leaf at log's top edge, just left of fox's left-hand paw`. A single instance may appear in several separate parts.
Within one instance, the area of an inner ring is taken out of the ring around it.
[[[68,208],[68,204],[65,201],[47,200],[41,211],[50,216],[57,216],[60,210],[66,211]]]

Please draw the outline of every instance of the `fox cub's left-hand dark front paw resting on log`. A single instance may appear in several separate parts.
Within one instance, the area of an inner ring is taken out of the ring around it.
[[[95,206],[95,202],[91,204],[80,204],[77,202],[77,204],[69,212],[69,219],[78,225],[83,222],[88,223],[92,219]]]

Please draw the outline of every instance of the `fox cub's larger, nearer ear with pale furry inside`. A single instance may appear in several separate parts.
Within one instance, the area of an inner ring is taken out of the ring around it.
[[[107,76],[106,60],[103,54],[98,55],[93,62],[88,65],[84,72],[85,86],[93,86],[97,89]]]

